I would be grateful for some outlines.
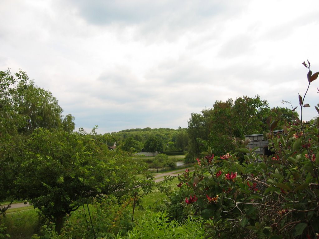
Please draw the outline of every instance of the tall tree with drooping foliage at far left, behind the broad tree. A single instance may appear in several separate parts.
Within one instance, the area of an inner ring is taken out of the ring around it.
[[[74,130],[74,117],[63,117],[57,99],[50,91],[35,86],[26,72],[20,70],[13,76],[9,69],[0,71],[0,89],[0,120],[6,128],[2,132],[30,134],[40,127]]]

